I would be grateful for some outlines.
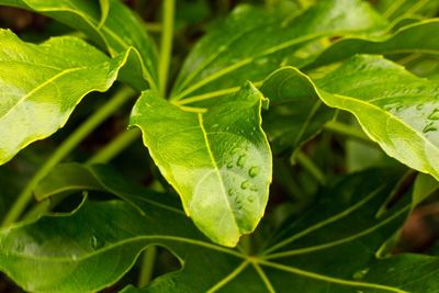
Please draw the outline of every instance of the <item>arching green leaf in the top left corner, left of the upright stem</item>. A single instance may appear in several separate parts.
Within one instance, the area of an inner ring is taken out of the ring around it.
[[[0,0],[0,4],[27,9],[87,34],[112,56],[134,47],[122,79],[138,90],[157,87],[157,53],[140,20],[120,0]],[[101,4],[101,8],[100,8]]]

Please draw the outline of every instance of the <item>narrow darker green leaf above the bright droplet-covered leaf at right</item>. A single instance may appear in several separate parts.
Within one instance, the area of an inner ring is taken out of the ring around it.
[[[341,61],[356,54],[439,54],[439,40],[431,37],[439,31],[439,20],[426,20],[402,27],[394,34],[368,37],[342,38],[311,61],[303,69],[320,67]]]

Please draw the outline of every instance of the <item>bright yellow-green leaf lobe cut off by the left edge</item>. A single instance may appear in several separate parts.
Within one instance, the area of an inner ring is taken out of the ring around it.
[[[79,38],[34,45],[0,31],[0,164],[55,133],[87,93],[108,90],[130,55],[110,59]]]

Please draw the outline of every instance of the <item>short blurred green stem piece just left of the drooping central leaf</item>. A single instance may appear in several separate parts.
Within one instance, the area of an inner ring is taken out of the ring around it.
[[[114,140],[112,140],[110,144],[99,150],[98,154],[91,157],[86,164],[105,164],[108,161],[111,161],[122,150],[124,150],[126,147],[137,140],[140,135],[142,133],[137,128],[123,132]]]

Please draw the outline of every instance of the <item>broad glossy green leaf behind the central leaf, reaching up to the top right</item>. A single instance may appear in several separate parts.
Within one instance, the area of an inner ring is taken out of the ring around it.
[[[319,1],[299,16],[238,7],[210,31],[187,58],[173,99],[196,101],[226,94],[244,81],[260,81],[311,41],[386,25],[367,2]],[[196,95],[196,97],[193,97]]]

